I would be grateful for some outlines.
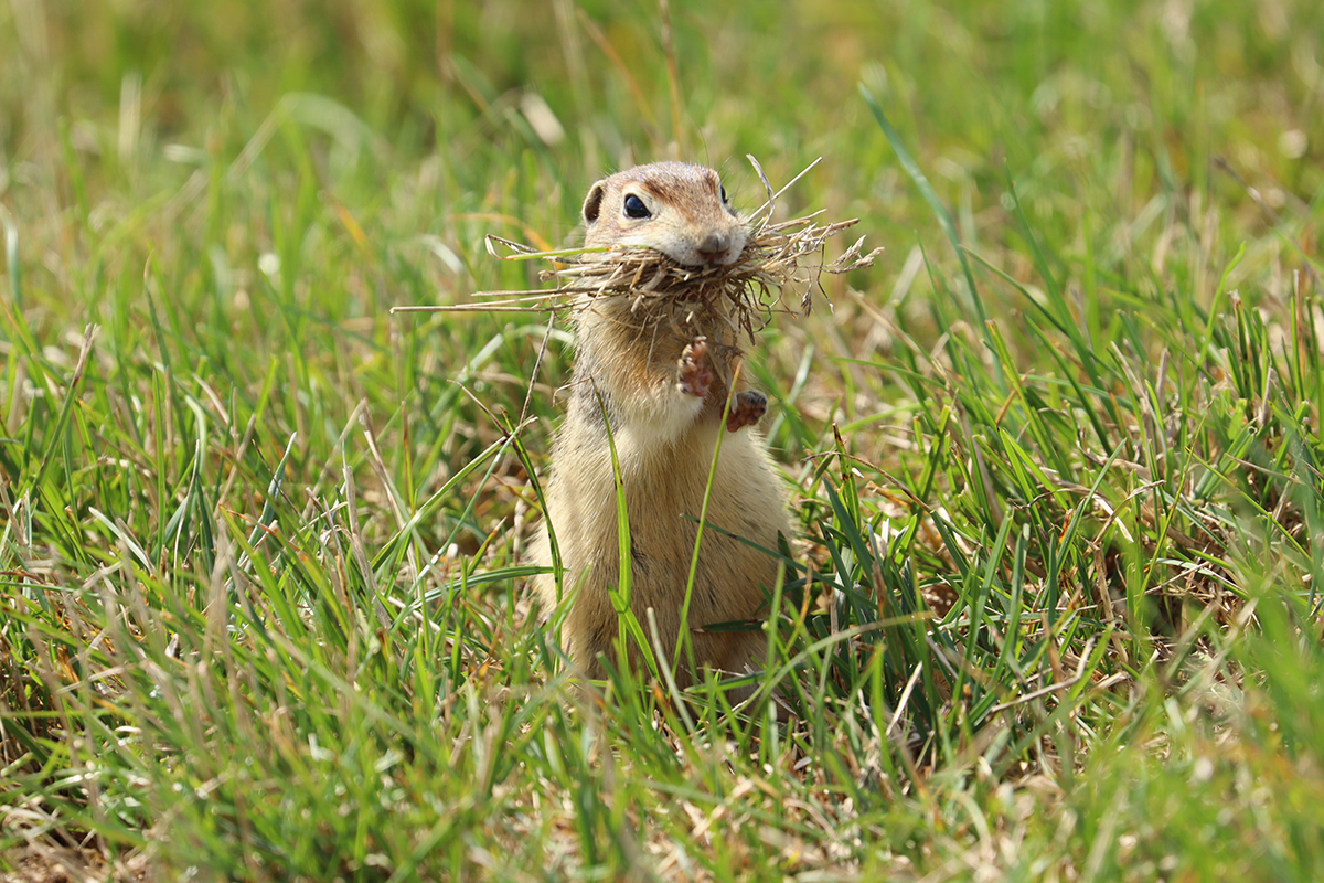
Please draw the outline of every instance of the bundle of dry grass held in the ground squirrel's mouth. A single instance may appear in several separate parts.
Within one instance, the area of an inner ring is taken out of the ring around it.
[[[775,311],[785,308],[788,293],[796,294],[800,311],[808,315],[813,307],[814,291],[822,293],[821,273],[849,273],[871,266],[883,249],[862,254],[865,238],[861,237],[841,257],[826,262],[824,253],[828,240],[854,226],[859,218],[820,224],[817,218],[822,212],[816,212],[790,221],[771,222],[777,197],[821,160],[812,163],[776,193],[759,163],[752,156],[749,162],[767,188],[768,201],[755,210],[744,250],[732,263],[687,267],[646,248],[539,252],[489,234],[487,250],[493,257],[503,261],[544,259],[552,263],[539,277],[544,282],[555,281],[556,287],[481,291],[474,294],[481,298],[475,303],[395,307],[392,312],[584,310],[602,298],[624,298],[630,301],[632,312],[645,315],[657,314],[665,306],[673,316],[677,307],[688,311],[690,318],[703,314],[730,316],[752,340]]]

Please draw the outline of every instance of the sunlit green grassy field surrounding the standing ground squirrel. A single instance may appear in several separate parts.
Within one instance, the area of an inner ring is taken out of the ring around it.
[[[15,0],[0,57],[5,879],[1324,879],[1324,5]],[[887,248],[755,353],[790,723],[573,686],[569,338],[389,312],[745,154]]]

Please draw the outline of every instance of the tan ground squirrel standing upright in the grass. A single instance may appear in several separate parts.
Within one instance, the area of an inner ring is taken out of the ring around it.
[[[597,181],[584,200],[584,224],[588,246],[647,246],[694,267],[735,262],[748,240],[718,173],[683,163],[639,165]],[[620,545],[604,410],[630,519],[630,606],[645,633],[653,608],[666,665],[675,658],[696,519],[740,364],[732,323],[720,314],[700,311],[695,318],[683,307],[683,295],[675,301],[679,308],[641,306],[629,297],[581,295],[575,303],[576,364],[569,412],[552,446],[547,518],[560,548],[564,590],[580,586],[565,620],[567,643],[591,678],[605,674],[600,654],[614,659],[618,631],[608,596],[618,584]],[[687,322],[677,322],[679,314]],[[726,421],[707,523],[776,549],[779,531],[789,535],[784,494],[761,437],[745,429],[763,417],[767,398],[740,387]],[[773,589],[777,561],[711,527],[703,532],[687,620],[695,662],[700,671],[761,669],[761,631],[702,629],[767,616],[765,593]],[[535,559],[551,564],[545,528]],[[553,577],[542,576],[536,586],[551,609],[557,601]],[[639,670],[633,646],[630,663]],[[677,680],[694,682],[683,661]]]

